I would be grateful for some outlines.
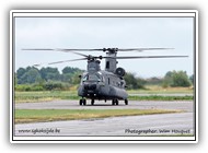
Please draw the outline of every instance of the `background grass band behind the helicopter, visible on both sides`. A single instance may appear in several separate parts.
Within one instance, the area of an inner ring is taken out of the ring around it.
[[[129,101],[193,101],[193,95],[188,96],[165,96],[165,94],[192,94],[193,89],[149,86],[148,90],[128,91]],[[130,95],[134,94],[134,95]],[[149,94],[149,95],[142,95]],[[162,95],[157,95],[162,94]],[[44,92],[15,92],[15,103],[49,102],[54,99],[79,99],[77,91],[44,91]]]

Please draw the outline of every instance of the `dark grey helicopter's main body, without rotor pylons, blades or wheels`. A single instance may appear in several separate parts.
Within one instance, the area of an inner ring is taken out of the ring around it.
[[[78,95],[91,99],[127,99],[125,86],[125,80],[112,72],[84,72]]]

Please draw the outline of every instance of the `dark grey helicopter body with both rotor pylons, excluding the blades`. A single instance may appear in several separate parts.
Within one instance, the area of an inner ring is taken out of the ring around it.
[[[100,60],[88,60],[88,70],[81,75],[78,95],[81,101],[90,98],[94,99],[112,99],[113,104],[118,104],[118,99],[127,102],[128,94],[125,90],[126,82],[124,80],[125,70],[116,68],[117,60],[116,51],[108,51],[106,55],[109,58],[105,60],[105,70],[101,70]],[[84,103],[83,103],[84,104]],[[127,104],[126,104],[127,105]]]

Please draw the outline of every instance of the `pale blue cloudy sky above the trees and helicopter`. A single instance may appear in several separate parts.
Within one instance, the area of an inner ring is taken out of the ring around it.
[[[193,17],[15,17],[15,70],[36,63],[82,58],[60,51],[22,50],[24,48],[174,48],[118,52],[117,56],[188,56],[169,59],[118,60],[124,68],[141,78],[164,76],[167,71],[194,73]],[[105,52],[82,52],[102,55]],[[104,69],[104,59],[101,68]],[[86,61],[43,64],[86,69]],[[41,69],[42,67],[38,67]]]

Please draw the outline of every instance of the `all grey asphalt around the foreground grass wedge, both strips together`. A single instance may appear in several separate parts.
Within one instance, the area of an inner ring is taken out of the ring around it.
[[[15,125],[14,136],[192,136],[194,131],[193,102],[129,102],[112,106],[99,102],[79,106],[77,101],[16,104],[15,109],[175,109],[178,114],[111,117],[71,121]]]

